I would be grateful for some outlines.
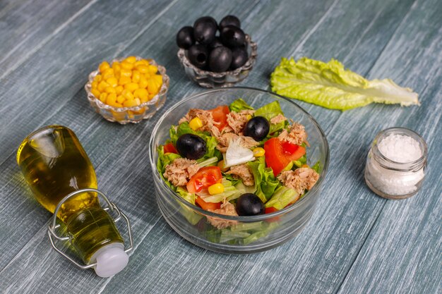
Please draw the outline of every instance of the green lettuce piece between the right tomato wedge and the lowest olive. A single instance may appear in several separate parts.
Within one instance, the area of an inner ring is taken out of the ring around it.
[[[250,161],[247,165],[255,180],[255,194],[264,203],[267,202],[280,185],[280,181],[275,178],[272,169],[265,167],[264,157],[258,157],[256,161]]]

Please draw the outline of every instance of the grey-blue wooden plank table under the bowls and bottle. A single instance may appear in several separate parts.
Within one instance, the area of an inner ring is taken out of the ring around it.
[[[174,233],[155,203],[148,140],[155,121],[201,92],[177,60],[175,35],[199,16],[232,13],[258,42],[249,87],[268,89],[282,56],[342,61],[367,78],[392,78],[421,106],[332,111],[298,102],[330,143],[330,169],[304,231],[254,255],[220,255]],[[0,1],[1,293],[441,293],[442,2]],[[138,125],[109,123],[83,85],[100,61],[139,55],[170,76],[165,106]],[[43,125],[72,128],[94,164],[99,188],[133,223],[129,266],[112,278],[57,255],[49,212],[32,199],[16,165],[21,140]],[[429,147],[418,195],[393,201],[364,185],[366,152],[379,130],[412,128]]]

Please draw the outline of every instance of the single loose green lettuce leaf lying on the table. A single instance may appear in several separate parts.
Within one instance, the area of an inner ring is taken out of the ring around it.
[[[273,92],[282,96],[342,111],[372,102],[419,105],[412,89],[400,87],[390,79],[366,80],[335,59],[324,63],[306,57],[297,62],[282,58],[270,77],[270,85]]]

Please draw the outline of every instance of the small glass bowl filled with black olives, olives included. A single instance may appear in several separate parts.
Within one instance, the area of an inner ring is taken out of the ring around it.
[[[218,34],[219,32],[219,34]],[[177,34],[178,58],[186,75],[201,87],[231,87],[248,75],[258,46],[241,30],[239,19],[226,16],[220,23],[210,16]]]

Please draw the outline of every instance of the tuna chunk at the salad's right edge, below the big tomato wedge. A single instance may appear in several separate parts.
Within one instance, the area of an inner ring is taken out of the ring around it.
[[[287,188],[297,190],[299,194],[304,194],[304,190],[311,190],[319,178],[319,174],[309,167],[295,169],[294,171],[282,171],[277,177]]]

